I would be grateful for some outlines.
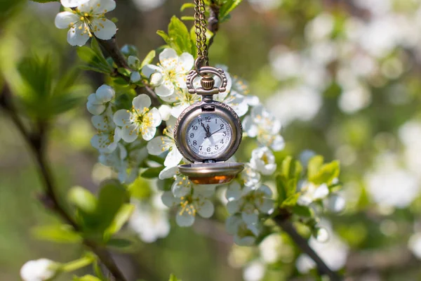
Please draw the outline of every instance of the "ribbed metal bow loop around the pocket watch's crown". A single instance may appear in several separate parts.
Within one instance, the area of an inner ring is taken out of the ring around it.
[[[221,84],[220,87],[217,88],[213,88],[210,90],[205,90],[202,88],[194,88],[194,79],[196,79],[196,77],[198,75],[206,75],[206,74],[213,74],[218,76],[221,79]],[[187,89],[189,89],[189,93],[197,93],[198,95],[203,95],[203,96],[209,96],[209,95],[214,95],[216,93],[223,93],[225,91],[227,91],[227,84],[228,84],[228,79],[227,79],[227,75],[225,75],[224,70],[220,69],[220,68],[215,68],[215,67],[210,67],[210,66],[204,66],[200,68],[200,72],[196,72],[196,70],[190,70],[189,75],[187,75]]]

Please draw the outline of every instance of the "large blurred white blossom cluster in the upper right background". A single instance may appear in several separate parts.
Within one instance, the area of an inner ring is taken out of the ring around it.
[[[276,1],[251,2],[265,6]],[[410,60],[397,48],[420,57],[421,37],[417,30],[421,27],[421,5],[398,9],[393,2],[355,1],[357,8],[368,11],[368,18],[320,13],[305,27],[306,48],[272,48],[269,62],[273,77],[288,83],[267,100],[267,106],[284,126],[294,120],[313,119],[332,81],[340,87],[340,110],[347,114],[363,110],[372,100],[370,88],[385,86],[410,67]],[[405,103],[408,98],[392,95],[390,101]]]

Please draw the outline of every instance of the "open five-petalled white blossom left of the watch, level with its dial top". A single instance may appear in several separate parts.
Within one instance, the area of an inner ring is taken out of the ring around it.
[[[118,110],[114,113],[114,123],[121,127],[121,138],[127,143],[133,143],[139,135],[145,141],[150,141],[156,133],[156,127],[161,124],[161,115],[153,107],[149,110],[151,99],[142,94],[133,99],[132,110]]]

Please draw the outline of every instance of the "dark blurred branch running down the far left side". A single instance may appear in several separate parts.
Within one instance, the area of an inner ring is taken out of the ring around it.
[[[13,106],[11,100],[11,93],[8,91],[7,86],[4,86],[4,89],[0,96],[0,107],[4,109],[4,111],[11,117],[13,123],[18,128],[20,133],[22,134],[25,142],[29,146],[32,154],[35,157],[36,164],[39,169],[39,174],[44,181],[45,185],[45,194],[42,197],[42,202],[44,205],[50,209],[53,209],[57,214],[59,214],[62,219],[71,225],[74,230],[80,230],[79,226],[77,225],[76,221],[67,214],[67,211],[64,206],[62,206],[58,195],[56,194],[55,184],[53,181],[53,176],[51,174],[50,167],[48,166],[47,159],[45,157],[45,148],[46,148],[46,129],[47,124],[46,122],[38,122],[38,130],[35,133],[29,132],[25,125],[22,123],[20,118],[18,117],[18,113]],[[126,281],[126,277],[124,277],[123,273],[119,270],[116,266],[116,263],[112,259],[112,256],[106,249],[103,249],[98,244],[91,240],[83,240],[83,244],[87,247],[91,248],[91,250],[98,256],[98,259],[108,268],[108,270],[114,275],[116,281]]]

